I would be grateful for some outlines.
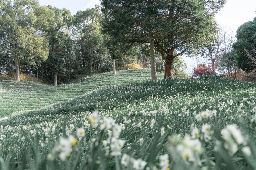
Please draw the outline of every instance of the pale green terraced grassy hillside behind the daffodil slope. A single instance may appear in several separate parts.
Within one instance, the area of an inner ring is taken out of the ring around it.
[[[158,74],[163,77],[162,74]],[[14,112],[39,109],[60,101],[68,101],[95,89],[127,82],[148,80],[150,70],[117,71],[84,77],[81,83],[59,85],[57,87],[13,79],[0,79],[0,118]]]

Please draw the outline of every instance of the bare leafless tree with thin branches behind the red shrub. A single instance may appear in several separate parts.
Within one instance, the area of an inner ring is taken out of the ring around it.
[[[220,56],[232,48],[234,42],[233,33],[229,33],[230,29],[218,27],[213,32],[212,38],[207,40],[200,50],[200,57],[206,60],[207,64],[212,64],[214,72],[216,62],[220,60]]]

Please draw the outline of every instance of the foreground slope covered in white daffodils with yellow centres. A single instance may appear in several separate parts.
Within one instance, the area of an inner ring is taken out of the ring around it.
[[[1,169],[256,169],[255,83],[124,79],[112,85],[158,88],[88,90],[1,120]]]

